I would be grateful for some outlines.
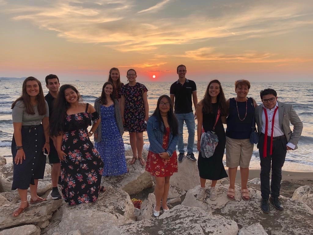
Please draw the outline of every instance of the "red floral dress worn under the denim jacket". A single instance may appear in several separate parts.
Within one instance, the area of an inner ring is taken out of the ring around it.
[[[170,136],[170,128],[166,128],[166,134],[163,135],[163,149],[167,149],[168,139]],[[171,176],[177,172],[177,154],[176,151],[173,152],[172,157],[166,160],[160,157],[159,154],[148,152],[146,161],[146,171],[150,172],[151,175],[156,177]]]

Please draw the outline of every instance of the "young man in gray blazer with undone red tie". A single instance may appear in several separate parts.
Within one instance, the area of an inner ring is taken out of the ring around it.
[[[303,124],[294,111],[292,104],[277,101],[273,89],[260,92],[263,104],[255,108],[255,122],[259,132],[260,165],[261,165],[261,209],[269,213],[271,201],[277,210],[283,210],[280,196],[281,168],[284,165],[287,150],[297,149]],[[293,132],[290,129],[293,125]],[[269,187],[269,172],[272,169]],[[269,197],[269,194],[271,195]]]

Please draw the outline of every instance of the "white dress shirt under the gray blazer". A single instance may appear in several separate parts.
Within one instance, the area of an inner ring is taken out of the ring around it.
[[[263,108],[266,109],[267,112],[267,120],[268,120],[268,124],[267,124],[267,136],[271,136],[272,135],[272,121],[273,121],[273,115],[275,112],[275,109],[278,108],[278,102],[276,101],[276,104],[274,106],[274,108],[272,108],[271,110],[269,110],[268,108],[266,108],[263,104]],[[261,128],[261,132],[265,135],[265,113],[264,113],[264,109],[262,112],[262,128]],[[275,114],[275,120],[274,120],[274,131],[273,131],[273,137],[277,137],[277,136],[281,136],[281,135],[285,135],[285,133],[282,131],[281,126],[279,124],[279,109],[277,110],[276,114]],[[288,143],[287,144],[288,147],[290,147],[291,149],[295,149],[295,145]]]

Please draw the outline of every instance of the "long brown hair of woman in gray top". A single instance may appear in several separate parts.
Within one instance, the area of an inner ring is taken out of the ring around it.
[[[37,82],[37,84],[39,86],[39,94],[36,96],[36,100],[38,102],[37,109],[38,109],[39,115],[45,115],[47,110],[46,110],[46,102],[44,100],[44,92],[42,90],[41,82],[37,78],[34,78],[34,77],[28,77],[24,80],[23,86],[22,86],[22,96],[20,96],[19,98],[16,99],[16,101],[13,102],[11,109],[14,108],[14,106],[16,105],[16,102],[23,101],[24,106],[26,108],[26,112],[28,114],[32,114],[32,115],[35,114],[33,105],[30,102],[30,97],[26,91],[26,85],[27,85],[26,83],[28,81],[36,81]]]

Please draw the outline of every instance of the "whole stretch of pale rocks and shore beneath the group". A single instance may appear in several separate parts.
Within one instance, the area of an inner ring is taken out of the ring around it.
[[[126,157],[129,159],[131,156]],[[48,200],[30,205],[13,218],[12,212],[20,202],[18,192],[10,190],[13,166],[0,157],[0,235],[312,234],[311,175],[306,179],[284,180],[283,177],[280,200],[285,210],[277,211],[270,205],[270,213],[264,214],[259,206],[261,193],[257,177],[249,181],[249,201],[241,199],[238,184],[235,200],[229,200],[227,179],[218,181],[216,201],[209,197],[198,201],[197,163],[184,160],[178,164],[178,173],[171,177],[167,201],[171,210],[155,218],[152,215],[153,177],[138,161],[128,167],[129,173],[125,175],[102,178],[101,185],[107,190],[100,193],[95,203],[68,206],[63,200],[49,200],[51,166],[47,164],[45,178],[39,180],[38,195]],[[208,180],[207,188],[209,185]],[[290,191],[294,191],[292,196]],[[134,207],[133,197],[143,200],[141,209]]]

